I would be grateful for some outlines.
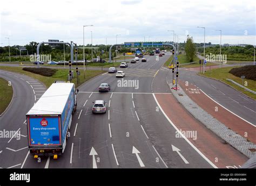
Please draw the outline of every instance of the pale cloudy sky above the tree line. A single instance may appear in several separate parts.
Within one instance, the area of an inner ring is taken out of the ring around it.
[[[0,46],[58,39],[83,45],[133,41],[256,45],[256,1],[1,1]],[[172,30],[172,31],[168,31]],[[116,36],[117,34],[120,34]]]

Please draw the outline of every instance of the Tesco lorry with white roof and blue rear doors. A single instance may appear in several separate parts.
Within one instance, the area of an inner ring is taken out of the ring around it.
[[[77,90],[78,92],[78,90]],[[75,84],[53,83],[26,113],[30,154],[62,155],[77,102]]]

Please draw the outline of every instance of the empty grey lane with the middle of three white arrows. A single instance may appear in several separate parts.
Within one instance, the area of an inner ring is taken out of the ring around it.
[[[139,121],[131,94],[114,94],[111,99],[110,127],[120,168],[163,168]],[[136,155],[136,148],[139,152]]]

